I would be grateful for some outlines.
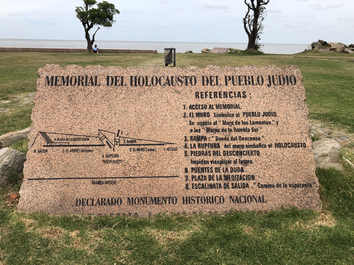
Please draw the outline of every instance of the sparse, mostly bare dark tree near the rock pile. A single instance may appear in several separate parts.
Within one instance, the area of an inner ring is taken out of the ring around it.
[[[258,50],[262,47],[259,43],[260,35],[263,33],[263,20],[266,17],[265,5],[269,0],[244,0],[247,5],[247,12],[243,18],[244,28],[248,36],[247,50]],[[255,3],[256,1],[256,3]]]

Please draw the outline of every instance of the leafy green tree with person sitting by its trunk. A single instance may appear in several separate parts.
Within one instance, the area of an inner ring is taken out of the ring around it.
[[[85,29],[85,38],[87,40],[87,51],[91,52],[93,42],[95,42],[95,35],[97,30],[100,29],[99,26],[110,28],[112,24],[115,23],[113,16],[119,14],[119,10],[115,6],[107,1],[102,3],[96,2],[96,0],[83,0],[84,6],[76,6],[75,12],[76,17],[81,21]],[[97,8],[93,8],[97,4]],[[97,27],[95,33],[92,35],[92,40],[90,39],[90,29]]]

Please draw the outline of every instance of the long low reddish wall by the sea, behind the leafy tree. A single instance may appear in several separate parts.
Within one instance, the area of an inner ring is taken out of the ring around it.
[[[0,47],[0,52],[86,52],[86,49]],[[157,50],[99,49],[99,53],[155,53],[157,54]]]

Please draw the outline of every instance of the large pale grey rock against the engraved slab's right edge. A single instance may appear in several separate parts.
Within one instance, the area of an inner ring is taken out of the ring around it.
[[[316,167],[324,167],[325,169],[334,167],[338,170],[344,170],[344,167],[338,163],[341,146],[336,140],[325,138],[314,141],[312,144]]]

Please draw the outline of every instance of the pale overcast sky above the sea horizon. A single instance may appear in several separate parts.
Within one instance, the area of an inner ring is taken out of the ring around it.
[[[96,40],[247,42],[243,0],[131,0],[112,2],[120,11]],[[1,0],[0,38],[84,40],[75,17],[81,0]],[[262,43],[311,43],[322,39],[354,43],[350,1],[270,0]]]

